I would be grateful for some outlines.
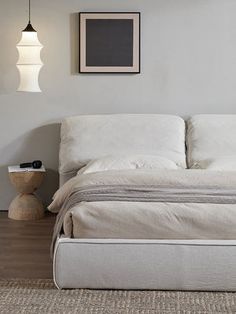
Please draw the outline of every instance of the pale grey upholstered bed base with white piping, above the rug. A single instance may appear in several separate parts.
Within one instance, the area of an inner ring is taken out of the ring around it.
[[[62,288],[236,291],[236,240],[57,239]]]

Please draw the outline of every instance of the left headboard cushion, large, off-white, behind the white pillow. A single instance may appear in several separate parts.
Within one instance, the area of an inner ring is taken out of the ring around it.
[[[115,154],[166,157],[185,168],[185,122],[173,115],[81,115],[63,120],[60,185],[90,160]]]

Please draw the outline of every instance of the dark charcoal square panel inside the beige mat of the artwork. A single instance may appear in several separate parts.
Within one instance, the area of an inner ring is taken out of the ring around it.
[[[133,20],[88,19],[86,66],[132,66]]]

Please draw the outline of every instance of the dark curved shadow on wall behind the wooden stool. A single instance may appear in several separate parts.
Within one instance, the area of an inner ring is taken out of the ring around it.
[[[59,143],[60,124],[57,123],[33,129],[2,148],[1,155],[8,164],[0,167],[0,210],[7,210],[16,195],[14,187],[9,182],[7,166],[35,159],[41,159],[47,169],[37,194],[45,206],[51,202],[52,195],[59,185],[57,171]]]

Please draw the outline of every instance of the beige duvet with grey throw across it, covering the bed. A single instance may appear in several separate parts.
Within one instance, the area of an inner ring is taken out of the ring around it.
[[[111,170],[82,174],[55,194],[53,243],[71,237],[236,238],[236,172]]]

